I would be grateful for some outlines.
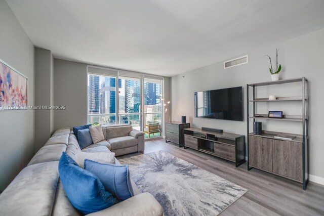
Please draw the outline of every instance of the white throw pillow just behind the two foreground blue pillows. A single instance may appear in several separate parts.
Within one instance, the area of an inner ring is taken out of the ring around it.
[[[75,155],[76,163],[84,167],[85,159],[93,160],[99,163],[115,163],[115,153],[114,152],[83,152],[78,151]]]

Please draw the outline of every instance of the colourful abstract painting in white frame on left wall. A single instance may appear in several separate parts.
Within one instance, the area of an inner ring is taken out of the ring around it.
[[[28,78],[0,59],[0,110],[26,109]]]

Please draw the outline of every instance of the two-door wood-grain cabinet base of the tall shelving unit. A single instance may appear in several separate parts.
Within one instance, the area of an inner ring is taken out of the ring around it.
[[[303,182],[303,144],[249,135],[250,166]]]

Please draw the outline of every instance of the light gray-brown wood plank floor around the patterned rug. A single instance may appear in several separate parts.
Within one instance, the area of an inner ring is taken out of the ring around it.
[[[267,172],[251,169],[247,164],[235,167],[229,162],[193,149],[177,147],[165,140],[145,142],[144,153],[163,150],[249,191],[226,208],[220,215],[324,215],[324,186],[310,182],[307,190],[302,185]],[[131,157],[142,153],[123,155]]]

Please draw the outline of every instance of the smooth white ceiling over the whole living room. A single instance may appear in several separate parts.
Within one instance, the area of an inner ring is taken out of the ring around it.
[[[7,0],[55,58],[173,76],[324,28],[323,0]]]

